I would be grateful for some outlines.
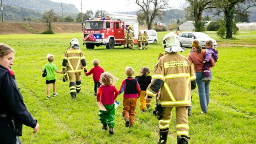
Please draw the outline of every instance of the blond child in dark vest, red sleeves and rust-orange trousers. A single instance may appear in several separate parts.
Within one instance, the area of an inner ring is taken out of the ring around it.
[[[134,70],[126,67],[125,74],[128,76],[124,79],[119,90],[120,95],[124,91],[123,99],[123,117],[125,119],[125,127],[133,126],[134,115],[136,114],[137,98],[140,95],[140,85],[137,79],[133,79]]]

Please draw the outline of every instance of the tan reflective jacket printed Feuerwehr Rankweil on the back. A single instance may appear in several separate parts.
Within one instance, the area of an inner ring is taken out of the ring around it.
[[[194,68],[188,59],[175,53],[162,56],[155,65],[147,95],[154,97],[163,107],[190,106],[191,83],[196,79]]]

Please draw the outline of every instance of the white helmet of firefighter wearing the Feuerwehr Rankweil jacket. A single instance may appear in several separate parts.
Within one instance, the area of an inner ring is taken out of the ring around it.
[[[164,50],[168,53],[185,51],[186,49],[180,47],[180,40],[178,39],[178,35],[174,32],[167,33],[162,41],[164,46]]]

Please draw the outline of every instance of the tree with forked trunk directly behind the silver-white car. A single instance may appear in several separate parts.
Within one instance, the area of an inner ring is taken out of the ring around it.
[[[188,7],[185,8],[188,13],[187,17],[193,16],[196,32],[204,31],[202,13],[204,10],[211,8],[211,3],[212,0],[186,0],[186,5],[188,5]]]

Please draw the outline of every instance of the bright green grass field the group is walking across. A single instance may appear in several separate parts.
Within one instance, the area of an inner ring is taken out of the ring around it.
[[[115,84],[119,89],[126,78],[126,66],[133,67],[135,74],[142,66],[148,66],[153,72],[158,54],[164,52],[161,40],[166,33],[158,32],[159,42],[150,44],[148,50],[142,51],[122,49],[123,46],[86,49],[81,45],[88,70],[93,67],[92,60],[98,59],[105,71],[119,78]],[[197,88],[192,92],[192,116],[188,118],[189,143],[256,143],[255,34],[256,31],[241,33],[231,40],[220,40],[216,34],[209,34],[218,41],[219,59],[212,68],[207,115],[201,114]],[[82,90],[73,100],[69,94],[69,81],[63,83],[62,75],[56,74],[59,95],[51,95],[46,100],[45,79],[41,71],[47,63],[46,55],[55,55],[53,63],[61,71],[63,54],[72,38],[82,43],[82,33],[0,35],[0,43],[8,44],[16,51],[12,70],[28,110],[40,125],[38,133],[32,133],[32,128],[23,126],[22,143],[156,143],[156,116],[152,110],[141,114],[139,102],[134,127],[124,127],[122,95],[117,97],[121,105],[116,109],[115,134],[109,135],[108,131],[101,129],[92,76],[82,75]],[[187,48],[181,54],[187,57],[189,51],[190,48]],[[176,143],[175,112],[170,123],[168,143]]]

